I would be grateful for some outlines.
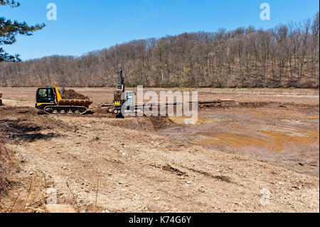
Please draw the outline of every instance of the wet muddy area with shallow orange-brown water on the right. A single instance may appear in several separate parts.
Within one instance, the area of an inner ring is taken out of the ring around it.
[[[159,133],[224,152],[248,155],[319,176],[319,112],[263,107],[199,112],[196,125],[171,117],[176,126]]]

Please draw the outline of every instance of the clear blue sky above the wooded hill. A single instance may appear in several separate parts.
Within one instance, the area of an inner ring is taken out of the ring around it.
[[[253,25],[272,28],[302,21],[319,11],[316,0],[18,0],[21,6],[0,6],[0,16],[46,23],[33,36],[18,36],[7,52],[22,60],[51,55],[81,56],[134,39],[193,31],[228,30]],[[48,3],[57,6],[57,21],[46,18]],[[271,7],[270,21],[260,19],[260,4]]]

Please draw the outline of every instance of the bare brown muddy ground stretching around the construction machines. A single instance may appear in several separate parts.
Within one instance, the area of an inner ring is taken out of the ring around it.
[[[317,90],[199,90],[267,104],[204,107],[196,125],[38,115],[35,89],[0,91],[11,158],[0,212],[46,212],[50,188],[80,212],[319,212]],[[76,91],[112,101],[112,89]]]

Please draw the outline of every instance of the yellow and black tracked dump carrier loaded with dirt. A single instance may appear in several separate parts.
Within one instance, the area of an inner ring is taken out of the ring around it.
[[[91,104],[91,100],[65,100],[57,87],[38,88],[36,91],[36,108],[48,115],[83,115]]]

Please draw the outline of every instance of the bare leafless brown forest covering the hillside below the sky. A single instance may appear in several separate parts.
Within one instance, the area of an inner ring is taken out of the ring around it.
[[[253,26],[130,41],[80,57],[0,63],[1,87],[127,85],[319,88],[319,12],[268,30]]]

